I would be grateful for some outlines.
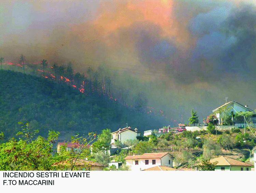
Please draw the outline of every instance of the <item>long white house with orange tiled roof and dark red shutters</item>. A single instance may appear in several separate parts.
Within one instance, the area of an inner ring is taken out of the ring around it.
[[[126,165],[133,171],[144,170],[154,166],[172,166],[173,156],[168,153],[144,153],[142,155],[128,155]]]

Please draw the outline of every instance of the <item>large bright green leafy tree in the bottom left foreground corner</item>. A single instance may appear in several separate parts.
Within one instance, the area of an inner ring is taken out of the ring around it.
[[[55,162],[52,148],[59,133],[49,131],[47,139],[42,136],[34,139],[38,131],[29,130],[29,123],[20,124],[22,131],[17,134],[20,138],[0,144],[0,170],[51,170]]]

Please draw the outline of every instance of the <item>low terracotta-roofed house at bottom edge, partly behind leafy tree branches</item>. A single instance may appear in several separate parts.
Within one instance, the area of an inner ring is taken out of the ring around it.
[[[103,164],[89,161],[89,160],[83,160],[83,159],[77,159],[76,161],[73,160],[73,163],[75,164],[75,169],[77,170],[103,170],[104,167],[106,167]],[[58,168],[61,168],[63,170],[70,169],[71,167],[71,160],[70,161],[61,161],[54,163],[53,166],[57,166]]]

